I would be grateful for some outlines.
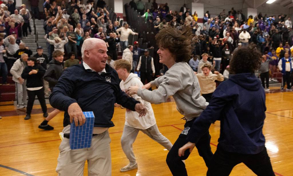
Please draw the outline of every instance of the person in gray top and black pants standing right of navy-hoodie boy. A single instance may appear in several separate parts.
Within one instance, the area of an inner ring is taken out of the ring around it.
[[[269,58],[269,59],[268,59]],[[269,91],[269,62],[272,60],[272,58],[269,55],[263,55],[261,57],[261,62],[260,62],[260,79],[261,79],[261,84],[263,85],[263,88],[265,91]],[[266,88],[265,88],[265,83],[266,83]]]

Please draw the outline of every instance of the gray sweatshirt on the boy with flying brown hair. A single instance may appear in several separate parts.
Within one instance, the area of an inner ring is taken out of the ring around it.
[[[198,79],[188,63],[175,63],[164,76],[151,81],[151,84],[156,85],[158,89],[139,89],[137,95],[155,104],[166,102],[169,96],[173,96],[177,110],[188,121],[200,116],[208,105],[200,95]]]

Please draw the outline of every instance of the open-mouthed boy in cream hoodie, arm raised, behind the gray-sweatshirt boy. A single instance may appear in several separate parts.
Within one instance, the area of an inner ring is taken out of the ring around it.
[[[213,92],[216,90],[215,81],[224,81],[224,76],[219,72],[215,71],[214,74],[211,72],[212,65],[205,64],[201,68],[202,73],[196,74],[196,77],[200,83],[200,90],[205,100],[209,102],[212,98]]]

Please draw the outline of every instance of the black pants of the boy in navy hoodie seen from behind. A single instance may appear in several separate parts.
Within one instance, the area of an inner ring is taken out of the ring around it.
[[[207,170],[207,176],[227,176],[239,163],[244,163],[258,176],[275,175],[265,147],[258,154],[231,153],[217,147]]]

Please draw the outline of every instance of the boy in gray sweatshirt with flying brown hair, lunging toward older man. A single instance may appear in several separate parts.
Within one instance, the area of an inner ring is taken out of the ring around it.
[[[192,51],[191,35],[190,29],[183,32],[171,27],[161,29],[156,35],[156,42],[159,46],[157,53],[160,57],[159,62],[165,64],[169,70],[164,76],[151,81],[142,88],[130,86],[127,89],[130,95],[137,93],[143,100],[155,104],[166,102],[169,96],[173,96],[177,110],[184,116],[182,118],[185,120],[184,130],[166,158],[168,167],[174,176],[187,176],[185,163],[182,160],[187,159],[190,152],[186,151],[184,156],[178,156],[178,149],[187,142],[187,134],[193,121],[208,105],[205,98],[200,95],[197,77],[186,63]],[[149,91],[151,86],[157,86],[158,89]],[[199,155],[202,156],[207,166],[213,156],[209,144],[210,139],[209,131],[207,131],[196,145]]]

